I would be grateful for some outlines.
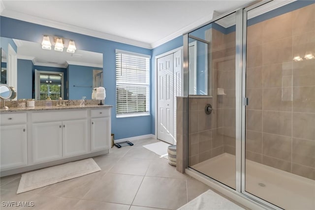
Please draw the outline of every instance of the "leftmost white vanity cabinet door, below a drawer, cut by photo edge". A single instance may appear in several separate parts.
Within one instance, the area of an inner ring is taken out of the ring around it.
[[[26,125],[0,127],[1,170],[25,166],[27,164]]]

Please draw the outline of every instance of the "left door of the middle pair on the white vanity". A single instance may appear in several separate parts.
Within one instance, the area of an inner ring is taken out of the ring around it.
[[[34,163],[62,157],[62,122],[33,123],[32,137]]]

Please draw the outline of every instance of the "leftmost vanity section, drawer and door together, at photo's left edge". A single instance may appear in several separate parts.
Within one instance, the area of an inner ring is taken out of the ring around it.
[[[0,115],[0,169],[27,165],[27,114]]]

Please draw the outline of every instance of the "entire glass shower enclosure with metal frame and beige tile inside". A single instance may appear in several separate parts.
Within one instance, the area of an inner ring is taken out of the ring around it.
[[[184,35],[188,168],[273,209],[315,209],[314,11],[260,2]]]

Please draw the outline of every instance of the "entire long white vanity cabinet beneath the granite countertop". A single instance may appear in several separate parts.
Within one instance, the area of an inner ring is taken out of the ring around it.
[[[108,153],[111,106],[0,112],[0,176]]]

